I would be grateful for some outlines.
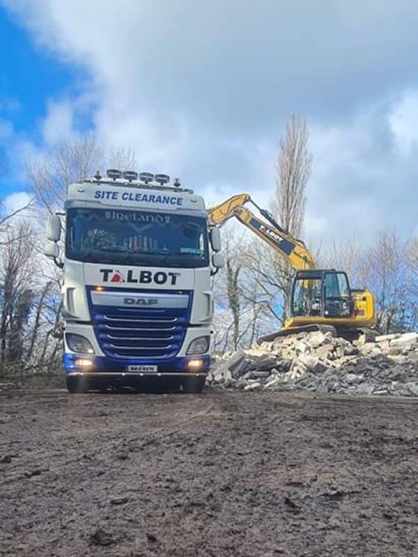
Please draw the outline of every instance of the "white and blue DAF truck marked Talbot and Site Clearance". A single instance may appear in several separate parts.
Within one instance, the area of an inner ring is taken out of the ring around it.
[[[63,269],[70,393],[150,383],[202,391],[211,276],[224,259],[201,196],[166,174],[110,168],[68,187],[47,239],[45,255]]]

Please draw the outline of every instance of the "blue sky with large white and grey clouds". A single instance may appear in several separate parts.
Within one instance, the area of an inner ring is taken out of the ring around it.
[[[413,0],[0,0],[0,198],[94,132],[208,204],[268,205],[286,120],[313,155],[304,239],[418,233]],[[7,165],[6,165],[7,162]]]

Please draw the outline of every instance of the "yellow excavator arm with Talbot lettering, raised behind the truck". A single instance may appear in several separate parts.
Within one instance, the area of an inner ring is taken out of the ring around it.
[[[266,219],[267,223],[256,217],[244,205],[252,203]],[[261,240],[264,240],[275,251],[284,256],[294,269],[314,269],[314,258],[302,240],[297,240],[274,220],[270,212],[258,207],[249,194],[238,194],[223,203],[208,209],[210,226],[222,226],[227,220],[235,217]]]

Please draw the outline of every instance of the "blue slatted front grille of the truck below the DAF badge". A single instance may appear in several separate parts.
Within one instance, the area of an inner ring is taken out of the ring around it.
[[[168,359],[176,356],[189,322],[187,308],[141,309],[94,306],[91,315],[98,343],[115,359]]]

